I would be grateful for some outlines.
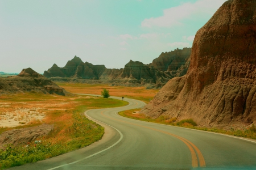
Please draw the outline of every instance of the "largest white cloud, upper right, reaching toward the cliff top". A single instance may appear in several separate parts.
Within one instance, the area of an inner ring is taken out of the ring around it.
[[[183,24],[183,19],[201,18],[213,15],[226,0],[198,0],[195,3],[183,3],[180,6],[168,8],[163,11],[163,16],[144,19],[142,27],[172,27]]]

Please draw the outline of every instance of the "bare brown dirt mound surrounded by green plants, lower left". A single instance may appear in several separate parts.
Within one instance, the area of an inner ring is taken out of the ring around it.
[[[40,138],[47,135],[53,129],[53,126],[54,125],[43,124],[30,128],[4,131],[0,135],[0,149],[5,148],[8,144],[26,146],[28,142],[34,143],[35,141],[40,141]]]

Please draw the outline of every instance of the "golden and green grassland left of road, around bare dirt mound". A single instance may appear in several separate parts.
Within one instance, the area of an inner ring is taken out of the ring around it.
[[[20,143],[18,146],[9,145],[5,146],[5,150],[0,150],[0,169],[51,158],[100,140],[104,134],[104,128],[88,120],[83,113],[88,109],[120,107],[127,104],[122,100],[82,95],[59,96],[28,93],[0,96],[0,122],[5,121],[6,118],[11,121],[11,117],[13,121],[16,119],[16,121],[24,122],[13,128],[1,127],[0,134],[6,130],[41,124],[54,125],[49,134],[37,141]],[[43,119],[33,118],[36,114],[43,115]]]

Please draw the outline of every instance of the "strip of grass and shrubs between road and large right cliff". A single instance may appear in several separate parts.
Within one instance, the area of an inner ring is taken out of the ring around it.
[[[147,117],[145,114],[139,114],[138,112],[140,110],[141,109],[131,109],[128,111],[119,112],[118,114],[123,117],[134,118],[136,120],[141,120],[141,121],[154,122],[158,124],[166,124],[166,125],[172,125],[172,126],[180,126],[184,128],[191,128],[191,129],[204,130],[204,131],[212,131],[215,133],[222,133],[222,134],[234,135],[237,137],[256,139],[255,125],[252,125],[246,129],[230,128],[230,130],[217,129],[217,128],[205,128],[205,127],[197,126],[196,122],[193,121],[192,119],[185,119],[185,120],[179,121],[177,120],[176,117],[168,117],[163,115],[154,119],[154,118]]]

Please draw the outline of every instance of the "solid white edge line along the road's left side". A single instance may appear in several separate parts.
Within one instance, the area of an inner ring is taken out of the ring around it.
[[[94,109],[88,110],[88,111],[86,111],[84,114],[85,114],[86,116],[88,116],[87,112],[92,111],[92,110],[94,110]],[[92,117],[90,117],[90,116],[88,116],[88,117],[89,117],[89,118],[92,118]],[[94,118],[92,118],[92,119],[93,119],[93,120],[96,120],[96,119],[94,119]],[[98,120],[96,120],[96,121],[98,121]],[[98,121],[98,122],[101,122],[101,121]],[[104,122],[101,122],[101,123],[102,123],[102,124],[105,124]],[[108,124],[105,124],[105,125],[108,125]],[[110,126],[110,125],[108,125],[108,126]],[[113,126],[110,126],[110,127],[114,128]],[[60,165],[60,166],[58,166],[58,167],[54,167],[54,168],[47,169],[47,170],[57,169],[57,168],[60,168],[60,167],[64,167],[64,166],[67,166],[67,165],[72,165],[72,164],[81,162],[82,160],[91,158],[92,156],[98,155],[98,154],[100,154],[100,153],[102,153],[102,152],[104,152],[104,151],[106,151],[106,150],[109,150],[110,148],[114,147],[115,145],[117,145],[117,144],[118,144],[120,141],[122,141],[122,139],[123,139],[123,134],[121,133],[121,131],[119,131],[119,130],[116,129],[116,128],[114,128],[114,129],[118,131],[118,133],[120,134],[120,138],[119,138],[119,140],[118,140],[117,142],[115,142],[112,146],[109,146],[108,148],[105,148],[104,150],[98,151],[98,152],[96,152],[95,154],[86,156],[85,158],[76,160],[75,162],[68,163],[68,164],[64,164],[64,165]]]

